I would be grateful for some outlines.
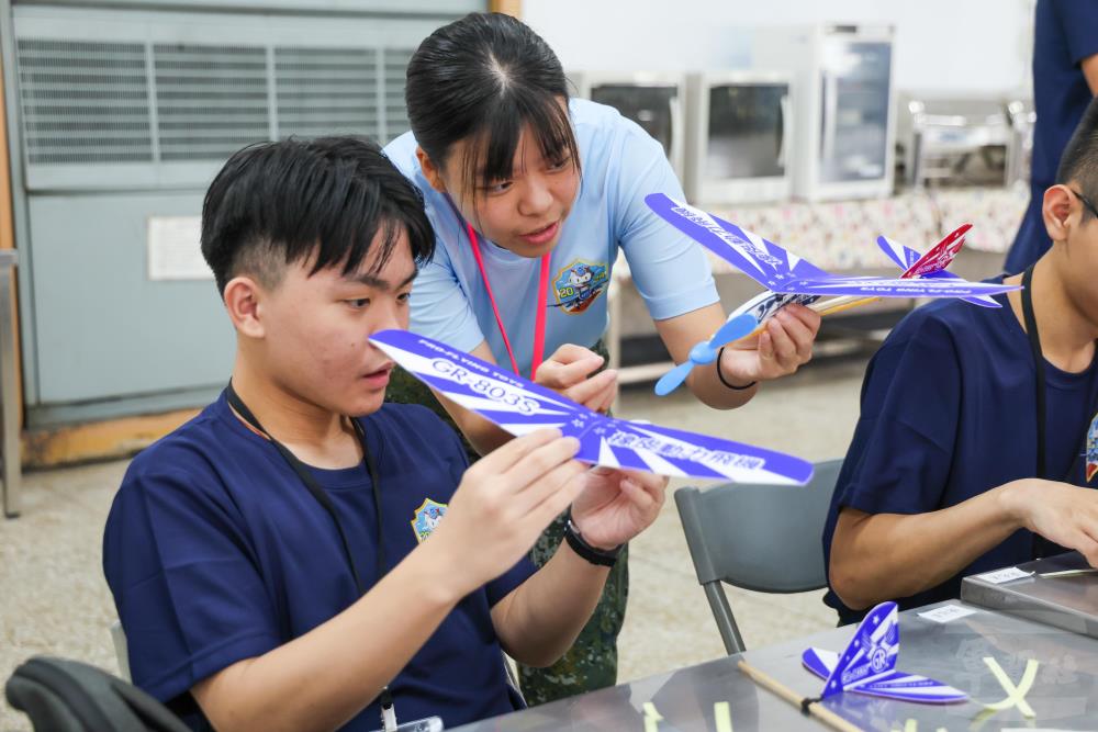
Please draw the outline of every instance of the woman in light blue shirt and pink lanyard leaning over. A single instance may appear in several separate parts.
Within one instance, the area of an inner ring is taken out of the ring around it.
[[[423,192],[437,236],[413,286],[412,330],[606,409],[617,375],[600,372],[601,338],[619,250],[676,362],[724,324],[701,247],[645,204],[654,192],[684,199],[662,147],[616,110],[570,100],[560,61],[528,26],[477,13],[439,29],[412,57],[405,93],[412,132],[385,153]],[[738,407],[759,382],[805,363],[818,327],[811,311],[787,307],[757,342],[725,349],[686,383],[709,406]],[[441,410],[395,373],[389,398]],[[444,406],[480,452],[508,439]],[[554,526],[542,537],[536,563],[562,532]],[[527,701],[615,683],[626,588],[619,561],[573,650],[548,671],[520,669]]]

